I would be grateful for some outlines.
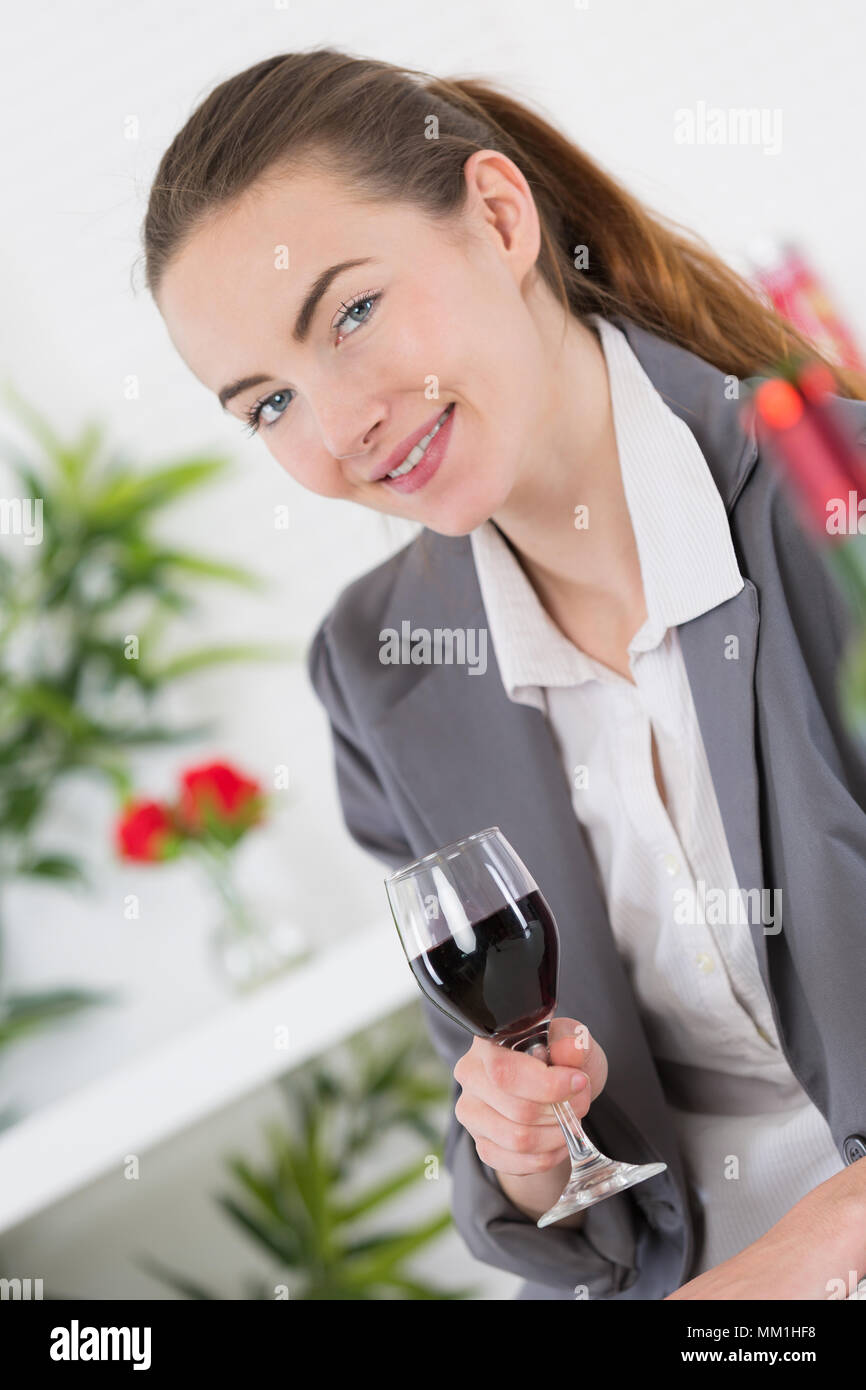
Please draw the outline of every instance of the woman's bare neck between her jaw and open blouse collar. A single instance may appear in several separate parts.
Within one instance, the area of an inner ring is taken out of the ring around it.
[[[539,413],[539,449],[492,520],[548,607],[603,605],[642,621],[605,353],[595,328],[573,316],[564,342],[555,321],[550,328],[550,395]]]

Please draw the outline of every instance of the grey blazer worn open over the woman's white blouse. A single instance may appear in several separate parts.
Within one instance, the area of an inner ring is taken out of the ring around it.
[[[781,930],[758,920],[751,933],[783,1047],[853,1162],[866,1155],[866,749],[842,727],[834,694],[851,614],[760,434],[741,428],[730,378],[613,321],[691,428],[727,509],[745,585],[678,637],[738,881],[781,890]],[[838,404],[866,461],[866,403]],[[379,631],[399,632],[403,620],[487,627],[468,537],[421,531],[349,584],[311,639],[307,670],[329,719],[348,830],[398,867],[502,828],[559,923],[557,1013],[584,1022],[609,1058],[587,1133],[616,1158],[667,1163],[589,1208],[580,1230],[538,1230],[452,1118],[455,1222],[478,1259],[527,1280],[521,1298],[663,1298],[691,1277],[702,1216],[552,733],[539,710],[507,699],[489,641],[484,674],[382,664]],[[731,635],[735,660],[724,656]],[[470,1036],[428,1001],[424,1009],[453,1066]]]

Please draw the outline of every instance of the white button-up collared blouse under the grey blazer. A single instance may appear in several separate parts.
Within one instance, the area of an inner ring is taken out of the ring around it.
[[[560,631],[491,521],[470,539],[506,694],[541,709],[557,741],[705,1212],[694,1277],[844,1161],[780,1045],[746,916],[770,926],[774,895],[740,897],[677,635],[742,588],[724,503],[624,334],[595,325],[648,613],[628,644],[634,684]]]

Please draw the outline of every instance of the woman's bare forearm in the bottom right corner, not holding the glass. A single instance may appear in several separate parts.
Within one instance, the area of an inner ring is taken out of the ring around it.
[[[834,1173],[759,1240],[667,1300],[842,1298],[866,1276],[866,1161]]]

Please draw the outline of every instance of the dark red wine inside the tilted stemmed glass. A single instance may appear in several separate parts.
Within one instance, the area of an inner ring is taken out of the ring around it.
[[[424,994],[471,1033],[513,1037],[553,1012],[556,923],[534,890],[409,963]]]

